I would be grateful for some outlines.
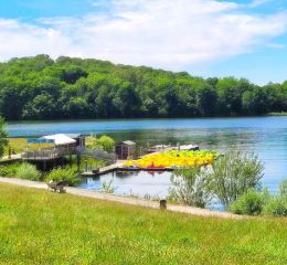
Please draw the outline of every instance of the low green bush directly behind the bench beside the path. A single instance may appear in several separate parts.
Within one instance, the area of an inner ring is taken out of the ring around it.
[[[45,181],[63,181],[66,186],[75,186],[79,182],[79,178],[73,169],[56,168],[46,176]]]

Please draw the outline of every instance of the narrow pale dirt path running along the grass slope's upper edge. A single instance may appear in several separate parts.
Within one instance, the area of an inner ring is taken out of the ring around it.
[[[0,177],[0,182],[22,186],[22,187],[28,187],[28,188],[42,189],[42,190],[47,189],[46,183],[30,181],[30,180],[10,179],[10,178]],[[126,204],[131,204],[131,205],[140,205],[140,206],[146,206],[146,208],[159,209],[159,202],[148,201],[148,200],[142,200],[142,199],[113,195],[113,194],[102,193],[102,192],[97,192],[97,191],[88,191],[88,190],[83,190],[79,188],[71,188],[71,187],[66,188],[66,192],[70,194],[93,198],[93,199],[97,199],[97,200],[105,200],[105,201],[119,202],[119,203],[126,203]],[[236,214],[228,213],[228,212],[219,212],[219,211],[212,211],[212,210],[208,210],[208,209],[192,208],[192,206],[185,206],[185,205],[168,204],[168,210],[173,211],[173,212],[182,212],[182,213],[188,213],[188,214],[193,214],[193,215],[200,215],[200,216],[243,219],[243,216],[241,216],[241,215],[236,215]]]

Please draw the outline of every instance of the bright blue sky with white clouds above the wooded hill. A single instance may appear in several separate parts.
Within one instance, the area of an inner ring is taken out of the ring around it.
[[[49,54],[287,80],[286,0],[0,0],[0,61]]]

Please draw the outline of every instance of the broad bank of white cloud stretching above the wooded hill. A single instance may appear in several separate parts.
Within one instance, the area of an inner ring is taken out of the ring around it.
[[[286,12],[243,11],[215,0],[117,0],[106,14],[81,19],[1,19],[0,60],[46,53],[187,70],[252,52],[287,31]]]

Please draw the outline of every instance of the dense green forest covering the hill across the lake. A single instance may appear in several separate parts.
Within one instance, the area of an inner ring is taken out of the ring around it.
[[[7,120],[263,115],[287,110],[287,82],[201,78],[185,72],[47,55],[0,63]]]

